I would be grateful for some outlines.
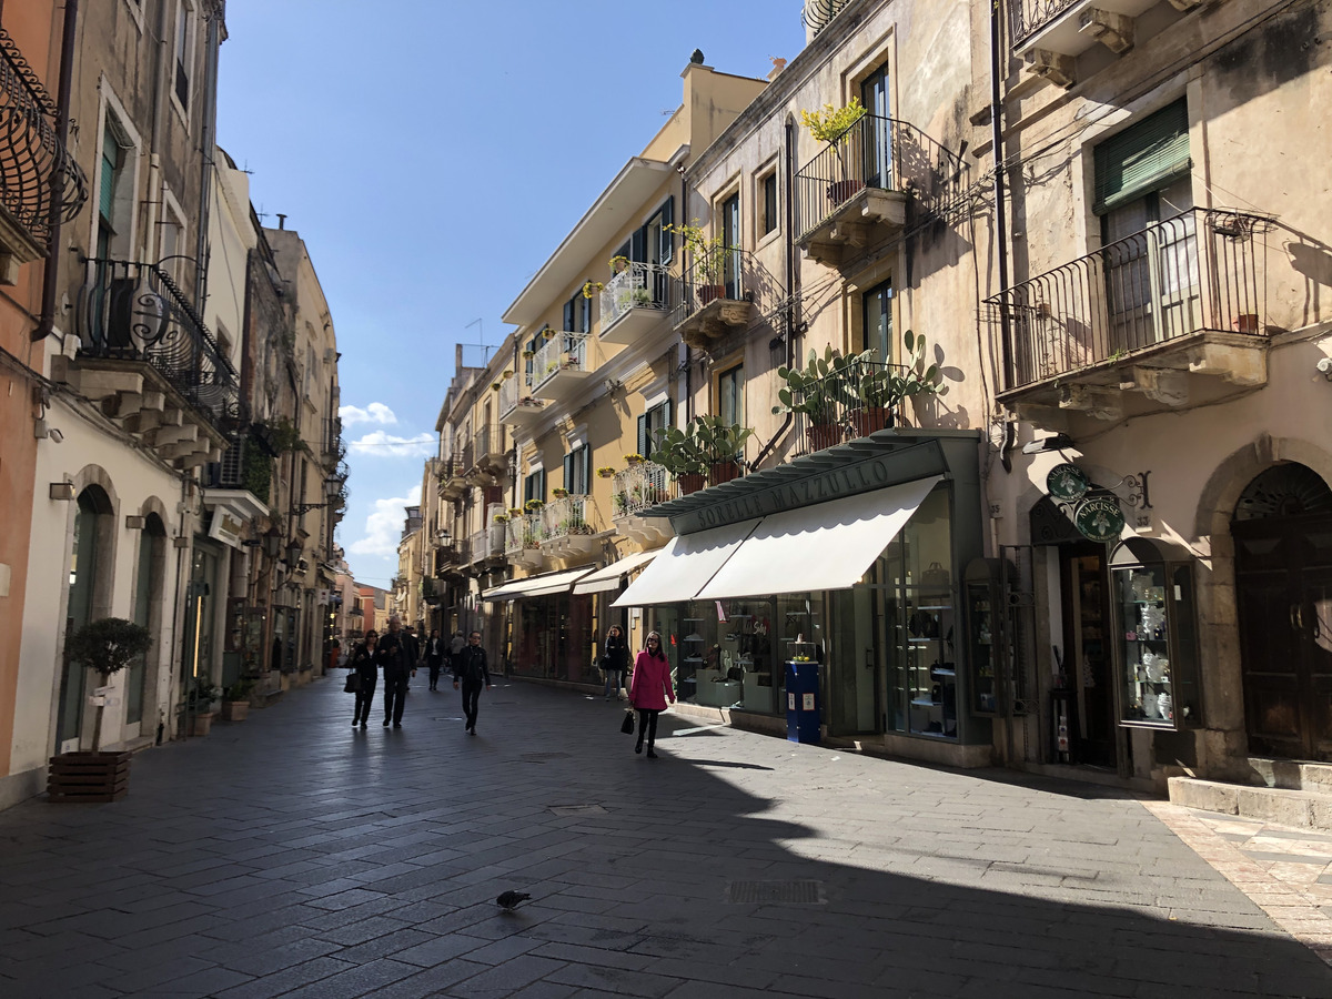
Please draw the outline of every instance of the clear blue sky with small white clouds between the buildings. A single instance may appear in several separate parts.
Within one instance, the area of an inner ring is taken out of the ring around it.
[[[695,47],[721,72],[766,76],[803,45],[801,8],[226,5],[218,143],[252,170],[264,222],[282,212],[300,232],[333,312],[352,469],[338,541],[358,581],[397,571],[454,344],[500,344],[501,313],[679,105]]]

